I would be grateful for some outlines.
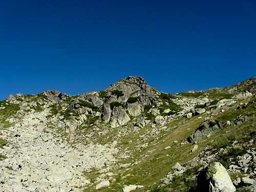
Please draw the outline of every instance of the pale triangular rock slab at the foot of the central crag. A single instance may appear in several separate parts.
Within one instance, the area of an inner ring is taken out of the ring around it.
[[[121,106],[115,106],[113,109],[113,116],[111,127],[118,127],[124,125],[128,121],[130,121],[130,117],[127,115],[126,111]]]

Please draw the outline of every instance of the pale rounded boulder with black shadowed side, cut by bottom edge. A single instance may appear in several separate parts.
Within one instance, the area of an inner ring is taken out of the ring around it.
[[[210,192],[233,192],[236,191],[227,170],[219,163],[215,162],[205,167],[197,178],[198,191]]]

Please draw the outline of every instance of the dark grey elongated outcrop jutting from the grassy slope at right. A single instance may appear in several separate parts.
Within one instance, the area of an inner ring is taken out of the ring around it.
[[[215,120],[206,120],[204,121],[196,131],[194,131],[188,141],[195,143],[197,141],[206,139],[208,135],[215,133],[223,127],[223,123]]]

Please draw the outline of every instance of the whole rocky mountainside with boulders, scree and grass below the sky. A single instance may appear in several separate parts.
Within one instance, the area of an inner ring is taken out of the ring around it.
[[[129,76],[99,92],[0,101],[0,191],[256,191],[256,77],[167,94]]]

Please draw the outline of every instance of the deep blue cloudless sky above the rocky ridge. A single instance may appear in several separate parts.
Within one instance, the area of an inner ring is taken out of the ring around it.
[[[255,76],[256,2],[0,2],[0,100],[102,90],[140,75],[160,91]]]

